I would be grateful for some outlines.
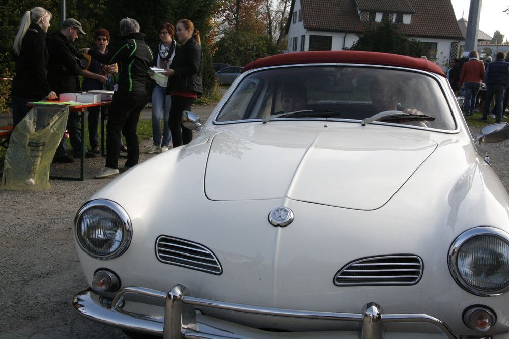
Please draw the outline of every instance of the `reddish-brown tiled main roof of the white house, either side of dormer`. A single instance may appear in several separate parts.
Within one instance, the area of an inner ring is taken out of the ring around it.
[[[373,1],[374,2],[374,1]],[[408,0],[415,13],[410,24],[399,24],[411,37],[461,39],[450,0]],[[292,1],[291,11],[295,0]],[[301,0],[304,27],[310,30],[362,33],[369,21],[360,21],[355,0]],[[290,11],[290,13],[291,13]],[[290,27],[291,16],[287,24]]]

